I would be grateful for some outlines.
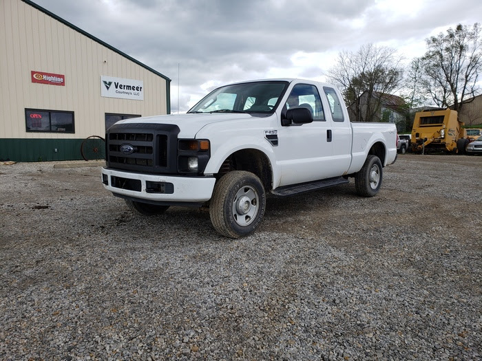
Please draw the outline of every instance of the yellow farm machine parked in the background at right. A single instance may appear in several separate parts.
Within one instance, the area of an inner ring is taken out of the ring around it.
[[[450,152],[465,153],[467,139],[463,122],[457,111],[450,109],[426,110],[415,113],[412,127],[414,153]]]

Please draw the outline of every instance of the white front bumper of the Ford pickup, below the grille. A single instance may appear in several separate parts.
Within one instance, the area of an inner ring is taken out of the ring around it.
[[[213,195],[214,177],[176,177],[102,168],[104,188],[127,199],[148,203],[198,204]]]

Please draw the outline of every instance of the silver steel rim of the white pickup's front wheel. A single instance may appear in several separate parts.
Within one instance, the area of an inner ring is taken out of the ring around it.
[[[242,227],[249,226],[258,215],[260,196],[252,186],[241,187],[234,197],[233,218]]]

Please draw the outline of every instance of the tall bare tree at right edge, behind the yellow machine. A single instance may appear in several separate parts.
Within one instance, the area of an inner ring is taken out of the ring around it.
[[[482,45],[479,23],[457,25],[446,34],[426,39],[427,52],[420,58],[423,67],[421,87],[439,107],[460,111],[464,100],[480,91]]]

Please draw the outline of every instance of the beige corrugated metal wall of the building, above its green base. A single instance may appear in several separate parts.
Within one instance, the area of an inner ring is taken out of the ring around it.
[[[32,83],[31,72],[65,75],[65,86]],[[101,75],[143,80],[144,100],[101,97]],[[20,0],[0,1],[0,142],[105,134],[105,113],[169,110],[169,80]],[[25,108],[74,111],[75,133],[28,133]],[[0,146],[1,149],[1,146]]]

